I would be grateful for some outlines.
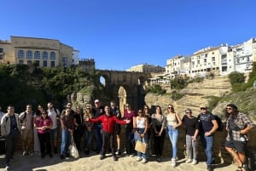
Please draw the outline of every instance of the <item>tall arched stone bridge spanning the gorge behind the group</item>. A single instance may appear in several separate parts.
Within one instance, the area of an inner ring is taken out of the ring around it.
[[[121,111],[124,111],[126,103],[130,104],[131,109],[135,111],[143,107],[145,86],[148,83],[150,74],[108,70],[97,70],[97,73],[104,78],[102,83],[105,88],[104,91],[110,94],[111,100],[116,101]]]

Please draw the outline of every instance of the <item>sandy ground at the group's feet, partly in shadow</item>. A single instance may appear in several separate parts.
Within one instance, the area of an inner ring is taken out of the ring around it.
[[[143,164],[137,162],[135,157],[125,157],[125,154],[118,156],[118,161],[114,162],[110,154],[100,160],[99,155],[91,153],[89,156],[81,153],[78,159],[73,157],[61,160],[59,155],[49,156],[43,159],[38,155],[23,157],[21,151],[15,152],[15,157],[11,161],[11,170],[14,171],[82,171],[82,170],[104,170],[104,171],[206,171],[205,162],[196,165],[185,163],[185,159],[177,160],[177,166],[171,166],[171,158],[164,157],[162,162],[156,162],[155,157],[150,157],[148,162]],[[4,170],[5,158],[0,156],[0,170]],[[234,171],[236,164],[216,164],[215,171]]]

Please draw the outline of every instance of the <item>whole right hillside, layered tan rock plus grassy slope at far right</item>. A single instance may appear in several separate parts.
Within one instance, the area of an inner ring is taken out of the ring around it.
[[[224,108],[228,103],[234,103],[240,111],[248,113],[251,117],[256,111],[256,88],[249,88],[245,92],[232,93],[229,78],[214,77],[213,79],[204,79],[201,83],[189,83],[186,88],[183,88],[179,93],[184,94],[183,98],[177,101],[172,100],[170,95],[147,94],[145,102],[148,105],[160,105],[163,110],[166,110],[166,105],[171,103],[175,110],[183,115],[186,108],[190,108],[194,114],[200,112],[199,106],[207,104],[212,100],[212,97],[217,97],[219,100],[217,106],[212,110],[213,113],[224,116]],[[255,118],[253,118],[255,120]]]

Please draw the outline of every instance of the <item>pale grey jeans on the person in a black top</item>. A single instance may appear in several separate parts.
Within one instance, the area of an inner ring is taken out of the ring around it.
[[[198,138],[196,140],[193,140],[192,137],[193,136],[186,134],[186,151],[189,159],[196,160]]]

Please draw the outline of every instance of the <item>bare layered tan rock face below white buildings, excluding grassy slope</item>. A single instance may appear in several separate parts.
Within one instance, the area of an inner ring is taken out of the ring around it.
[[[170,95],[147,94],[145,102],[149,106],[160,105],[166,109],[168,104],[174,105],[175,110],[183,115],[186,108],[190,108],[194,114],[200,112],[201,104],[208,104],[209,96],[221,97],[231,92],[231,85],[228,77],[214,77],[205,79],[201,83],[189,83],[179,93],[184,94],[183,98],[177,101],[172,100]]]

